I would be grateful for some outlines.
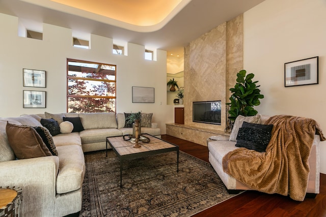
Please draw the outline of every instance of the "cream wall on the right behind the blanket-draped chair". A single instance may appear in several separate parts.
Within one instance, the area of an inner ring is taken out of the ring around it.
[[[326,1],[266,0],[244,13],[244,69],[265,96],[258,112],[317,120],[326,134]],[[319,84],[284,87],[284,63],[319,56]],[[320,145],[326,173],[326,142]]]

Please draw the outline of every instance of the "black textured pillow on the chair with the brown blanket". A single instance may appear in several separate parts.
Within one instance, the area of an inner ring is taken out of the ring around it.
[[[264,152],[271,137],[273,125],[260,125],[258,123],[243,122],[236,137],[237,147]]]

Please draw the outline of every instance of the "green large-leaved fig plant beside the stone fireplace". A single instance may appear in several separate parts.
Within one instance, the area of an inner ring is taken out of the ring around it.
[[[260,85],[256,86],[258,81],[252,81],[254,74],[250,73],[246,76],[247,71],[241,70],[236,74],[236,84],[234,88],[230,88],[233,93],[231,95],[230,103],[226,103],[230,106],[229,119],[234,121],[238,115],[242,116],[254,116],[258,112],[254,109],[254,106],[260,105],[259,99],[263,99],[264,95],[260,94]]]

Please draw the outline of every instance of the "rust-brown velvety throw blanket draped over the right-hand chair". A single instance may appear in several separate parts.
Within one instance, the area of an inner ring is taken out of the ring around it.
[[[223,158],[223,170],[257,191],[303,201],[314,135],[320,135],[321,141],[326,139],[310,118],[276,115],[265,124],[274,125],[266,152],[247,148],[230,151]]]

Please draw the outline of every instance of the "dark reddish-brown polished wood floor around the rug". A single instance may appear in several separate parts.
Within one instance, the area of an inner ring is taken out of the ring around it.
[[[206,146],[169,135],[161,138],[178,145],[181,151],[208,162]],[[194,216],[326,216],[326,174],[320,174],[320,193],[314,199],[298,202],[277,194],[246,191]]]

